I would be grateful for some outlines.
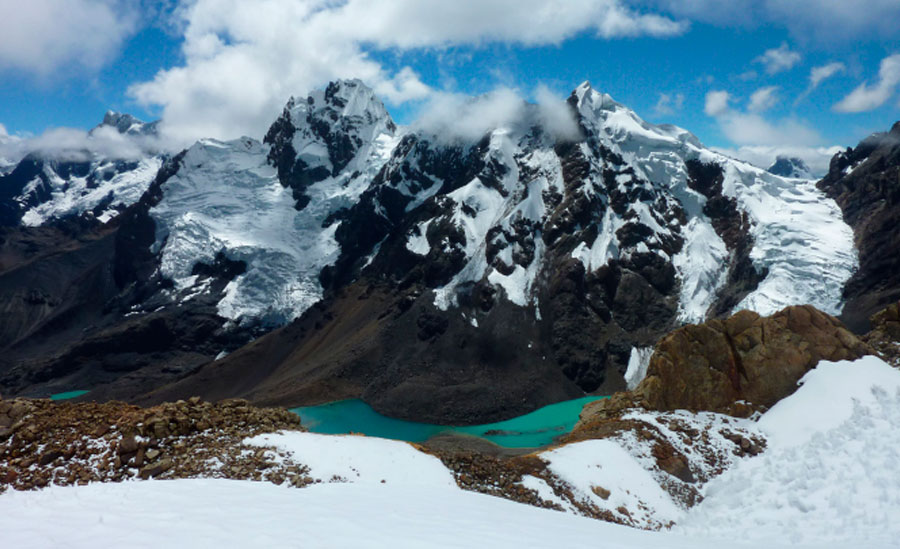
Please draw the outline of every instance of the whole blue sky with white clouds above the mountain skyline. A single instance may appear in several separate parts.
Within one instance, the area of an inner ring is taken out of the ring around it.
[[[115,109],[162,117],[182,142],[260,137],[288,96],[351,76],[401,123],[440,94],[562,98],[590,80],[758,163],[754,148],[822,153],[900,119],[896,0],[449,4],[0,0],[0,124],[27,138]]]

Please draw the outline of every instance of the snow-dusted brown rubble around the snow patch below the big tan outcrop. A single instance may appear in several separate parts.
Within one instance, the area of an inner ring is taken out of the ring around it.
[[[623,409],[615,417],[582,417],[576,429],[563,438],[564,445],[596,439],[619,445],[684,509],[702,499],[705,483],[737,460],[755,456],[766,447],[751,420],[722,414]],[[592,502],[584,493],[586,487],[573,486],[554,472],[547,457],[553,448],[522,454],[469,440],[457,440],[455,446],[453,442],[429,441],[422,449],[439,457],[464,490],[637,528],[666,526],[641,520],[639,516],[645,513],[636,512],[638,509],[604,509]],[[534,484],[527,482],[529,477],[543,481],[552,496],[530,488]],[[603,486],[589,489],[603,501],[611,495]]]

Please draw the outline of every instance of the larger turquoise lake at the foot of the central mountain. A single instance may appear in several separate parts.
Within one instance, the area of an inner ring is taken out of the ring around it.
[[[340,435],[350,432],[371,437],[424,442],[434,435],[457,433],[487,439],[506,448],[546,446],[568,433],[588,402],[608,397],[590,396],[557,402],[523,416],[466,427],[416,423],[383,416],[361,400],[342,400],[320,406],[294,408],[303,425],[313,433]]]

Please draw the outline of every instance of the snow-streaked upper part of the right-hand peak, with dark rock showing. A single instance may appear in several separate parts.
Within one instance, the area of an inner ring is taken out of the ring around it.
[[[534,109],[522,108],[477,144],[443,144],[419,131],[376,180],[371,208],[388,224],[417,217],[409,251],[424,261],[432,251],[458,257],[435,289],[440,309],[486,280],[539,311],[547,248],[565,238],[588,273],[611,261],[640,270],[658,261],[651,255],[674,265],[685,322],[706,318],[741,253],[761,282],[720,312],[770,314],[799,303],[839,312],[856,264],[852,234],[812,184],[717,154],[680,128],[647,124],[587,83],[569,104],[584,134],[574,142],[561,143]],[[449,165],[437,162],[448,157]],[[410,215],[426,201],[439,215]]]

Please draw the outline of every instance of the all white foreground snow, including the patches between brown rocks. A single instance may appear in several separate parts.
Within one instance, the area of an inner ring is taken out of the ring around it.
[[[587,441],[540,454],[573,491],[600,483],[623,494],[621,504],[637,498],[637,508],[674,521],[671,531],[465,492],[439,460],[405,443],[281,433],[245,442],[287,451],[322,483],[194,479],[8,492],[0,539],[17,548],[900,547],[900,370],[875,357],[823,362],[801,383],[756,424],[767,450],[737,460],[686,512],[627,445]],[[534,477],[523,482],[549,490]]]

